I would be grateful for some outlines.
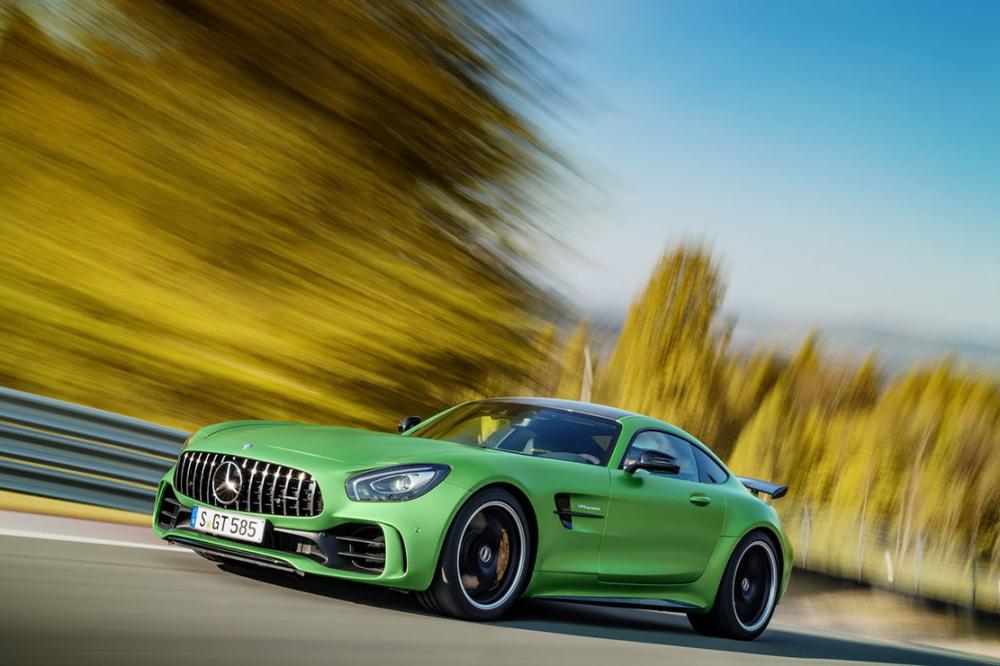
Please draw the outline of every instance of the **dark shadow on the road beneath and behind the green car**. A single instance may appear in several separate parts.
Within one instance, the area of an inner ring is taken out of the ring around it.
[[[219,568],[288,589],[349,603],[404,613],[435,616],[423,610],[411,594],[388,588],[319,576],[297,576],[256,567],[221,564]],[[441,618],[443,622],[459,622]],[[552,634],[606,638],[653,645],[717,650],[800,659],[864,661],[915,666],[969,666],[990,663],[959,653],[863,639],[820,636],[805,631],[769,627],[754,641],[710,638],[694,632],[687,618],[676,613],[587,606],[554,601],[524,600],[494,626]]]

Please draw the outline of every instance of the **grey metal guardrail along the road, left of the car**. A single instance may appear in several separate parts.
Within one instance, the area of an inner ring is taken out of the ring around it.
[[[0,489],[152,513],[188,433],[0,388]]]

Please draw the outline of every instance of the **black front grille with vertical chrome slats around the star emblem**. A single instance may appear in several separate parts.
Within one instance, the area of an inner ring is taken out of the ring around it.
[[[243,482],[235,500],[222,504],[212,492],[212,477],[216,468],[226,462],[236,463]],[[303,517],[323,511],[323,495],[311,475],[294,467],[225,453],[182,453],[174,472],[174,486],[199,502],[237,511]]]

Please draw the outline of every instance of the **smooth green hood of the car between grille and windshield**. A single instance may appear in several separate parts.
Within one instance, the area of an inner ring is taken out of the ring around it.
[[[305,470],[317,464],[360,470],[406,462],[437,462],[482,451],[394,433],[271,421],[209,426],[192,440],[191,449],[231,453]]]

